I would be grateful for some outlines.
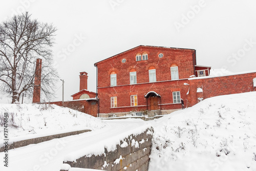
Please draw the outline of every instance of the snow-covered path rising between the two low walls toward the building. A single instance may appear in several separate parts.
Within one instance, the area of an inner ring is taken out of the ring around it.
[[[39,144],[9,151],[9,167],[1,164],[0,170],[59,171],[63,160],[75,159],[82,154],[101,154],[104,147],[113,149],[115,144],[133,133],[140,133],[148,122],[141,119],[124,119],[105,121],[106,126],[97,131],[53,139]],[[0,153],[3,159],[4,153]]]

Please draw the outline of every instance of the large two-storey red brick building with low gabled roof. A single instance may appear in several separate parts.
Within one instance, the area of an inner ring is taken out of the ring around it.
[[[181,109],[190,76],[208,76],[196,50],[138,46],[95,63],[99,113]],[[184,84],[185,83],[185,84]]]

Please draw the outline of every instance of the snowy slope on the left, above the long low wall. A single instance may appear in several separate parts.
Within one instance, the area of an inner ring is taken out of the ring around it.
[[[91,115],[54,104],[0,104],[0,117],[5,112],[10,119],[10,142],[105,126],[102,120]],[[0,126],[0,139],[4,139],[3,131],[3,126]]]

